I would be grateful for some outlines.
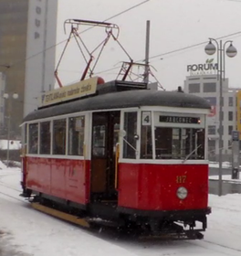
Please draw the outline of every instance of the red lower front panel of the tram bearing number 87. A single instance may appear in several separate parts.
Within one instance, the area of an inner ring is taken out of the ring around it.
[[[176,196],[185,187],[188,196]],[[149,210],[206,208],[208,165],[120,164],[119,206]]]

